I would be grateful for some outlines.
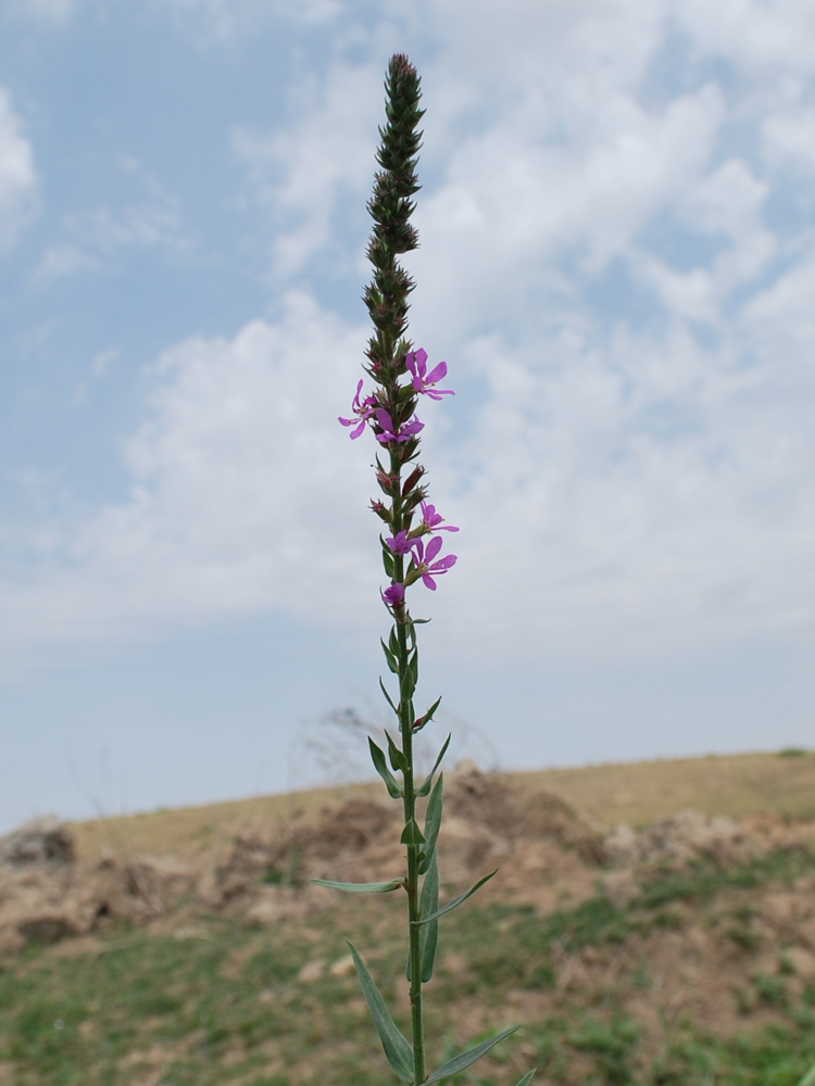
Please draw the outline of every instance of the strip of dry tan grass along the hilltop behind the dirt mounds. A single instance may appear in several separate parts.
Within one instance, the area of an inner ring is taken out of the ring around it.
[[[546,790],[591,821],[613,826],[647,825],[686,808],[704,815],[815,817],[815,756],[743,754],[546,769],[510,773],[513,790]],[[319,788],[260,796],[204,807],[95,819],[73,829],[83,858],[110,850],[118,856],[189,857],[230,841],[261,822],[281,823],[296,812],[313,813],[378,785]]]

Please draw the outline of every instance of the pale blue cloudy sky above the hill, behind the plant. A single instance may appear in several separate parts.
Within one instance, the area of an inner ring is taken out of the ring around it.
[[[0,829],[302,787],[321,720],[387,721],[337,416],[396,51],[438,736],[814,745],[811,3],[0,0]]]

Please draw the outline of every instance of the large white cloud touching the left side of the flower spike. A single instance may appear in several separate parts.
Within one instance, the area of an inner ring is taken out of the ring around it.
[[[361,554],[378,544],[358,501],[372,454],[337,422],[363,345],[362,329],[292,293],[278,324],[162,355],[150,420],[125,451],[128,500],[63,535],[61,572],[7,590],[7,635],[269,607],[334,622],[375,602]]]

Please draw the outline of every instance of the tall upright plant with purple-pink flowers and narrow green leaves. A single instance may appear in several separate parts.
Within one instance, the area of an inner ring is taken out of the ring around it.
[[[356,949],[350,944],[349,948],[391,1068],[406,1086],[422,1086],[459,1074],[519,1027],[503,1030],[427,1073],[422,986],[432,976],[439,920],[471,897],[496,872],[485,875],[469,889],[440,906],[437,843],[441,826],[443,776],[437,773],[450,736],[425,780],[417,782],[414,774],[414,736],[432,719],[441,698],[434,702],[425,714],[416,716],[416,627],[424,620],[411,617],[406,591],[419,580],[425,588],[436,591],[437,579],[447,574],[456,561],[454,554],[440,554],[443,542],[441,535],[436,533],[459,531],[454,525],[443,523],[436,506],[427,502],[425,469],[415,463],[419,449],[418,434],[424,429],[416,407],[419,396],[438,402],[454,393],[452,389],[436,388],[447,377],[447,363],[439,362],[428,371],[427,352],[413,350],[405,338],[408,296],[414,283],[398,256],[418,244],[410,218],[415,206],[412,198],[419,188],[415,169],[422,137],[417,126],[424,114],[418,106],[419,79],[406,56],[397,54],[391,58],[385,87],[387,124],[379,129],[381,143],[377,162],[380,169],[368,202],[374,229],[367,257],[374,266],[374,276],[364,294],[374,324],[365,371],[375,388],[363,396],[364,381],[361,380],[351,403],[351,417],[340,418],[339,421],[352,428],[349,434],[352,440],[369,429],[379,445],[376,479],[385,501],[374,501],[372,508],[389,532],[380,536],[383,565],[389,581],[381,591],[381,598],[392,620],[388,641],[383,641],[381,645],[388,668],[397,677],[398,691],[391,695],[381,679],[379,685],[396,716],[398,741],[386,732],[387,758],[373,740],[369,738],[368,743],[374,767],[385,782],[388,795],[402,804],[404,829],[401,843],[405,846],[405,872],[379,883],[315,882],[356,894],[387,894],[400,889],[405,893],[411,1041],[393,1022]],[[409,469],[403,479],[402,472]],[[416,800],[421,798],[427,798],[423,829],[419,829],[416,818]],[[530,1071],[518,1086],[529,1086],[534,1074]]]

